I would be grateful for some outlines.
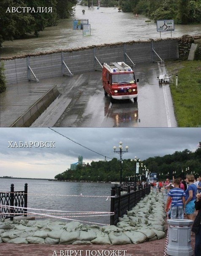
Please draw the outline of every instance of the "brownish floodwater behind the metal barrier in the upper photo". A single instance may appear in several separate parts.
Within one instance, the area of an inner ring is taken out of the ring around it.
[[[82,13],[83,9],[85,14]],[[91,25],[91,36],[83,36],[82,30],[73,30],[73,19],[88,19]],[[145,20],[148,20],[148,18],[144,15],[134,17],[133,13],[118,12],[117,8],[101,7],[97,9],[97,7],[94,7],[94,10],[89,10],[87,6],[77,5],[74,17],[62,19],[59,25],[45,28],[44,31],[40,32],[38,38],[30,35],[27,39],[3,42],[1,57],[104,43],[160,38],[156,23],[153,21],[148,23]],[[175,25],[172,37],[200,33],[201,24]],[[171,37],[171,32],[161,32],[161,38],[169,37]]]

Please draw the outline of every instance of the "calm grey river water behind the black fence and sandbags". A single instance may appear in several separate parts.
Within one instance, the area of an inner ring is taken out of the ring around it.
[[[14,191],[23,191],[25,183],[28,184],[28,208],[83,212],[110,211],[110,199],[107,200],[107,197],[111,195],[111,184],[0,178],[0,192],[9,192],[11,184],[14,184]],[[53,213],[54,216],[61,216],[57,214],[57,212],[40,210],[28,211],[43,214]],[[64,213],[62,214],[62,216],[65,218],[72,218],[78,221],[91,222],[84,224],[92,225],[92,223],[99,223],[107,225],[110,223],[110,216],[106,216],[105,214],[105,216],[98,217],[83,217],[80,214],[79,216],[81,217],[75,217],[76,214],[74,213],[71,215],[66,214],[67,213]],[[103,214],[100,213],[98,215]],[[37,220],[41,219],[41,216],[39,215],[35,215],[35,217]],[[44,217],[42,219],[44,219]],[[55,218],[52,218],[52,220],[55,220]],[[64,221],[69,222],[70,220]]]

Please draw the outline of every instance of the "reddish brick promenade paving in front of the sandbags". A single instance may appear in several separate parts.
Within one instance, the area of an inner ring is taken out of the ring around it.
[[[164,195],[166,201],[167,196]],[[197,212],[195,212],[196,216]],[[185,217],[186,218],[186,217]],[[168,224],[165,219],[166,236],[163,239],[128,245],[46,245],[0,243],[0,256],[167,256]],[[191,236],[194,251],[195,234]]]

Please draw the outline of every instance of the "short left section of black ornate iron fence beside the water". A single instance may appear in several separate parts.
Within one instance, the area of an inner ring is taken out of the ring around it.
[[[13,220],[14,216],[27,216],[27,183],[24,184],[24,191],[14,191],[14,184],[11,184],[10,192],[0,192],[0,218]],[[15,207],[12,207],[15,206]]]

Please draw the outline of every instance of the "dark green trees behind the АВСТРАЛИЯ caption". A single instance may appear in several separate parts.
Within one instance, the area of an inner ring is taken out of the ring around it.
[[[68,18],[73,14],[76,0],[1,0],[0,1],[0,46],[5,40],[14,40],[39,32],[58,24],[59,18]],[[30,7],[27,12],[21,7]],[[41,9],[38,9],[40,7]],[[12,8],[18,8],[12,11]],[[52,8],[52,12],[49,8]],[[37,12],[38,11],[38,12]]]

